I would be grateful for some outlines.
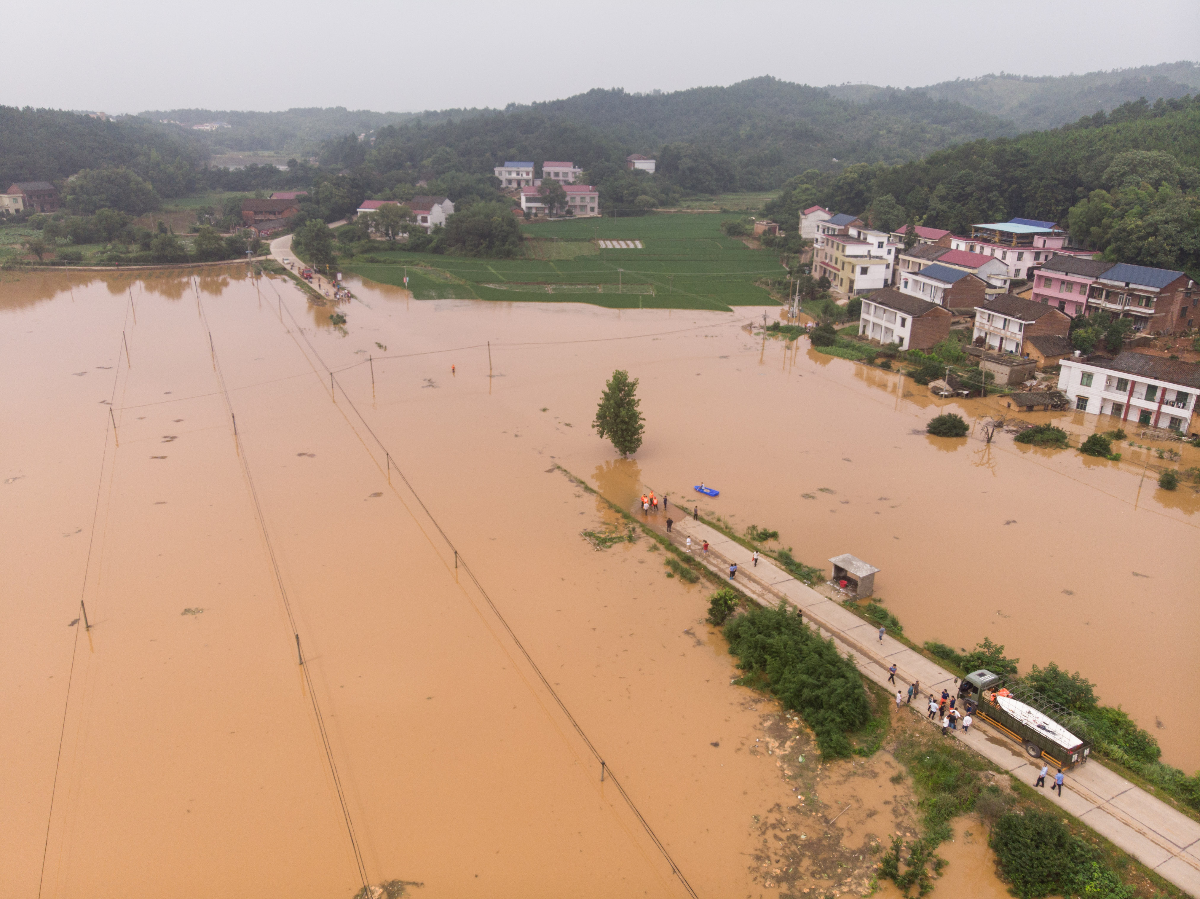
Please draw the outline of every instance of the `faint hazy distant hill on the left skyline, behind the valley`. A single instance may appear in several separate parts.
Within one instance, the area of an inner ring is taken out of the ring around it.
[[[420,119],[424,122],[464,119],[478,115],[480,109],[444,109],[425,113],[374,113],[370,109],[346,107],[311,107],[286,109],[277,113],[239,112],[233,109],[151,109],[139,113],[150,121],[174,121],[191,128],[193,125],[223,121],[229,127],[197,132],[198,139],[214,154],[277,150],[307,156],[318,151],[323,140],[344,134],[366,134],[386,125],[400,125]]]

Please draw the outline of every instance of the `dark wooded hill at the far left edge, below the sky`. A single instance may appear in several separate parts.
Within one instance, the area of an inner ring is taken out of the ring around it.
[[[0,106],[0,191],[13,181],[55,181],[83,168],[134,166],[155,157],[188,169],[209,151],[178,127],[134,118],[92,119],[58,109]]]

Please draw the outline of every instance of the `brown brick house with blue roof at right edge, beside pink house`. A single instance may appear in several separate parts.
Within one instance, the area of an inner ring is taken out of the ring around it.
[[[1195,326],[1195,282],[1182,271],[1117,263],[1096,277],[1085,314],[1132,318],[1134,331],[1177,334]]]

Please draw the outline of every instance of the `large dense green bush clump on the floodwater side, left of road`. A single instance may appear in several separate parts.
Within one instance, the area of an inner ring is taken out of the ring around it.
[[[862,675],[832,640],[822,640],[782,604],[738,616],[725,625],[725,637],[748,672],[744,681],[758,681],[785,708],[799,712],[826,759],[851,754],[846,732],[866,724],[871,707]]]

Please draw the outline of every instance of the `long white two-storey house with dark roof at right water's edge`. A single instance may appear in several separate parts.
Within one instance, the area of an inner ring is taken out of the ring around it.
[[[1080,412],[1193,433],[1200,365],[1134,352],[1116,359],[1068,356],[1058,389]]]

